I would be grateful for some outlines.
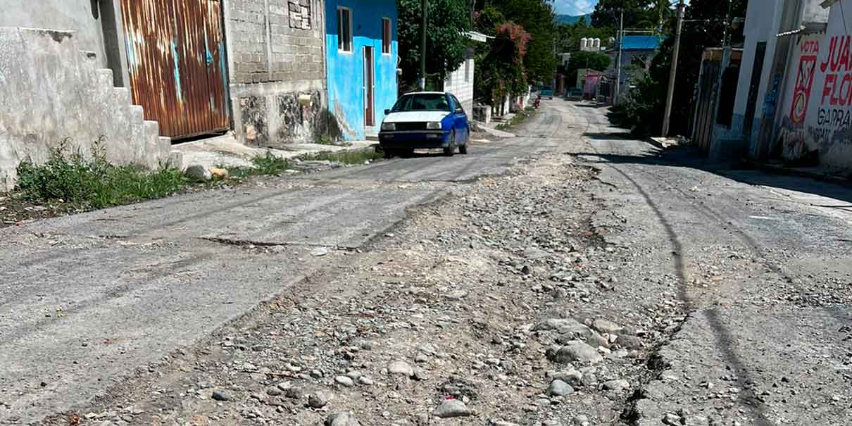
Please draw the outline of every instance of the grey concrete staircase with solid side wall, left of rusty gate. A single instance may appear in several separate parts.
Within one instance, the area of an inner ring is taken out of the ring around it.
[[[99,141],[113,164],[164,164],[170,139],[130,98],[74,32],[0,27],[0,190],[21,161],[44,162],[63,142],[88,155]]]

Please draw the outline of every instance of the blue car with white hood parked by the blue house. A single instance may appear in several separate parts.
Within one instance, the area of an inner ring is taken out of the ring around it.
[[[409,156],[415,149],[443,148],[446,156],[457,149],[468,153],[468,114],[450,93],[409,93],[384,113],[378,139],[385,158]]]

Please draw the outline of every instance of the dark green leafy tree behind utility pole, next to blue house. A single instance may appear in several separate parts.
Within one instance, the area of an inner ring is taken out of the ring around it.
[[[396,0],[400,44],[400,89],[413,88],[420,77],[420,0]],[[444,81],[447,74],[461,66],[469,40],[470,9],[458,0],[429,0],[429,25],[426,33],[426,73]]]

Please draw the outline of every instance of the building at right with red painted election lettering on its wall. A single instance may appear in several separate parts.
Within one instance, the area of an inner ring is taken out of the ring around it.
[[[732,117],[717,119],[711,156],[852,168],[845,119],[852,100],[836,95],[852,85],[843,82],[843,60],[831,60],[849,49],[843,21],[850,18],[822,0],[751,0]]]

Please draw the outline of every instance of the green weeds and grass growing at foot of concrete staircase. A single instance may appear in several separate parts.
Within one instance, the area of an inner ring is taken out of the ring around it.
[[[150,171],[137,165],[110,164],[95,142],[89,158],[67,152],[63,142],[45,164],[26,160],[18,166],[16,189],[36,203],[62,200],[81,209],[103,209],[168,197],[189,185],[181,170],[162,166]]]

